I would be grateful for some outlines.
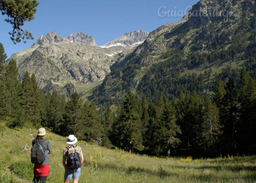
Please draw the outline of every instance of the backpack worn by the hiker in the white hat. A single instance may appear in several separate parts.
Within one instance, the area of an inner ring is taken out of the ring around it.
[[[68,151],[66,152],[66,161],[68,169],[78,169],[82,166],[80,150],[76,145],[71,145],[66,147]]]

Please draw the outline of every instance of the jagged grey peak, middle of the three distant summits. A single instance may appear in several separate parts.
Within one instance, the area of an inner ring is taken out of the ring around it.
[[[68,39],[73,43],[85,43],[87,45],[97,46],[94,38],[88,34],[78,32],[70,34]]]

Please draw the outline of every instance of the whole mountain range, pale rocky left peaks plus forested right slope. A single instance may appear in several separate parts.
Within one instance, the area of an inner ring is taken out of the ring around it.
[[[132,37],[132,33],[127,33],[103,46],[92,46],[80,43],[81,34],[74,34],[78,39],[67,39],[53,33],[48,38],[42,37],[45,43],[39,41],[38,47],[29,49],[30,54],[26,51],[17,53],[16,56],[21,57],[17,63],[23,63],[19,66],[23,73],[37,64],[33,62],[36,57],[49,66],[55,62],[52,66],[56,68],[54,73],[66,70],[59,76],[51,78],[47,75],[48,78],[44,79],[39,74],[40,69],[31,69],[31,72],[38,73],[39,83],[44,83],[40,87],[47,88],[45,92],[51,91],[55,84],[71,87],[68,89],[71,92],[101,81],[102,84],[94,89],[90,97],[91,100],[96,98],[98,104],[108,102],[109,98],[110,101],[118,100],[130,90],[147,97],[159,97],[161,93],[167,98],[191,89],[198,92],[212,90],[217,79],[228,77],[225,72],[232,70],[227,69],[228,63],[233,66],[237,62],[240,68],[255,68],[255,14],[255,0],[200,0],[181,21],[157,28],[144,41],[139,38],[126,41],[126,37]],[[138,30],[134,32],[140,33]],[[74,40],[78,43],[72,43]],[[141,44],[133,47],[134,43]],[[72,64],[74,61],[80,64]],[[45,69],[45,72],[48,70]],[[211,70],[217,72],[214,74]],[[185,83],[188,82],[187,77],[196,84]]]

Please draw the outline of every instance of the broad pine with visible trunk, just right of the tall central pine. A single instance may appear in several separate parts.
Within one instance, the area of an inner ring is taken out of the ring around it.
[[[155,104],[148,107],[149,121],[145,135],[145,146],[148,153],[160,156],[174,153],[180,140],[177,137],[181,133],[176,124],[176,112],[174,106],[167,99],[157,99]]]

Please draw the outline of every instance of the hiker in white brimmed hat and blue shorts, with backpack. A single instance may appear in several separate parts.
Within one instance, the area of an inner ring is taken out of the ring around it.
[[[81,174],[81,166],[84,161],[82,148],[75,145],[78,139],[75,135],[68,135],[66,143],[69,145],[63,150],[62,164],[65,168],[64,183],[69,183],[73,178],[73,183],[78,183]],[[70,158],[72,157],[72,158]],[[71,161],[73,159],[73,161]]]

